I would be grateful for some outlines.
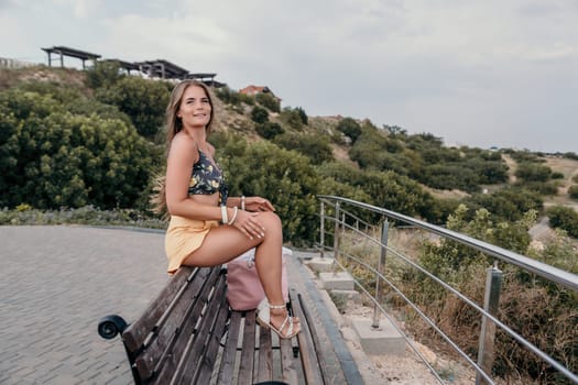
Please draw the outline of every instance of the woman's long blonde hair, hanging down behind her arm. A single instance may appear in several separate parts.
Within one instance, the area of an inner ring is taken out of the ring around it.
[[[175,135],[183,130],[183,120],[178,118],[177,112],[181,108],[181,102],[183,101],[183,95],[185,94],[188,87],[200,87],[205,91],[207,99],[210,105],[210,119],[207,125],[205,127],[205,132],[207,136],[210,134],[212,129],[212,120],[215,117],[215,108],[212,105],[212,97],[210,95],[209,88],[196,80],[183,80],[173,88],[171,92],[171,99],[168,100],[168,106],[166,107],[166,154],[171,148],[171,143]],[[164,174],[156,175],[153,180],[153,194],[151,196],[151,205],[153,211],[156,213],[163,215],[164,219],[168,218],[168,212],[166,208],[166,178]]]

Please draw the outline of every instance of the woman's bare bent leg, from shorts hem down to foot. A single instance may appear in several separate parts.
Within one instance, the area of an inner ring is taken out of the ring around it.
[[[200,248],[193,252],[183,264],[188,266],[215,266],[229,262],[246,251],[257,248],[257,273],[269,302],[272,305],[285,304],[281,288],[283,246],[281,220],[271,211],[261,212],[259,220],[265,228],[263,238],[251,240],[233,227],[218,227],[209,231]],[[285,317],[285,310],[271,311],[271,322],[276,328],[283,323]],[[283,330],[283,332],[286,332],[286,330]]]

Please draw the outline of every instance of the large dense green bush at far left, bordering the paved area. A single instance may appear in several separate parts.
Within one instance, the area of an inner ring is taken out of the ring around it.
[[[48,95],[0,92],[0,206],[142,202],[152,146],[122,120],[66,110]]]

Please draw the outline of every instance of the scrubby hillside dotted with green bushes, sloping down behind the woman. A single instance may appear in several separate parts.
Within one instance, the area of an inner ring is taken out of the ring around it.
[[[50,87],[37,86],[41,84]],[[68,111],[96,112],[106,119],[132,123],[141,135],[160,146],[163,135],[157,132],[172,87],[161,80],[123,77],[114,68],[0,69],[0,91],[20,88],[62,94],[56,99]],[[542,212],[553,205],[578,211],[578,202],[568,196],[569,186],[576,184],[572,177],[578,174],[576,156],[451,147],[432,133],[410,134],[399,127],[378,128],[369,120],[340,116],[309,117],[301,107],[281,108],[268,95],[248,97],[222,88],[214,94],[217,135],[211,140],[223,144],[236,134],[249,143],[274,144],[297,152],[323,180],[316,183],[317,193],[345,195],[436,223],[444,223],[460,202],[472,209],[486,207],[506,220],[520,218],[524,210],[534,208]],[[228,156],[227,151],[223,156]],[[516,177],[520,162],[527,167],[527,160],[530,164],[549,167],[549,174],[559,173],[563,178]],[[153,158],[152,163],[161,161]],[[515,201],[519,197],[523,201]],[[495,199],[515,207],[505,208]]]

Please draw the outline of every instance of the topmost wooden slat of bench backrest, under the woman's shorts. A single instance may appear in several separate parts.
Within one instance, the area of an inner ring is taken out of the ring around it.
[[[167,285],[143,315],[122,333],[122,340],[129,352],[135,352],[142,346],[151,330],[157,324],[161,317],[170,310],[170,306],[181,295],[181,290],[187,282],[198,280],[203,283],[207,274],[207,268],[183,267],[171,277]]]

